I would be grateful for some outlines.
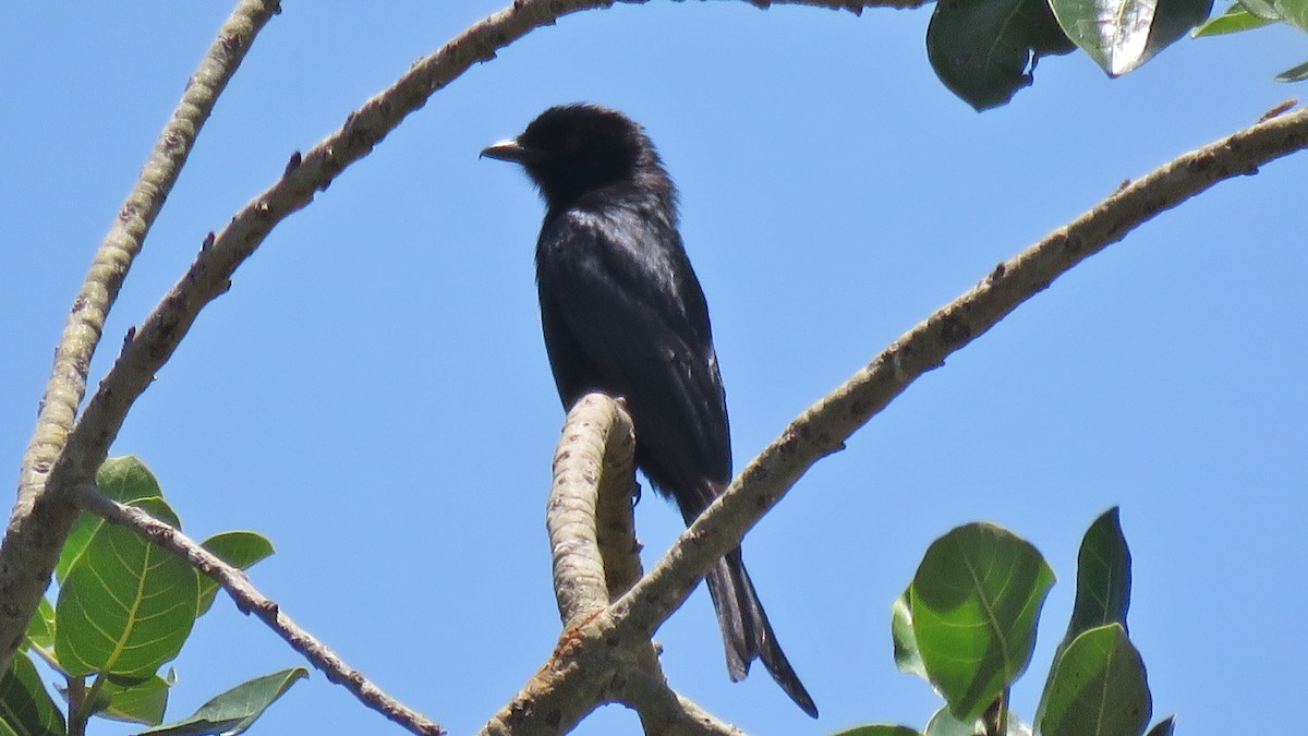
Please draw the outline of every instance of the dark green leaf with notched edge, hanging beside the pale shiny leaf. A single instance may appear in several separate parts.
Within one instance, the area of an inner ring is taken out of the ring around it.
[[[1071,50],[1046,0],[939,0],[926,29],[935,76],[977,110],[1031,85],[1041,56]]]

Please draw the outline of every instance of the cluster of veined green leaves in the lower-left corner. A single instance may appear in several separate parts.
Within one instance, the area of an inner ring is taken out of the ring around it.
[[[106,496],[181,528],[158,481],[135,457],[107,460],[95,475]],[[254,532],[215,534],[204,546],[249,568],[273,553]],[[160,726],[177,657],[217,584],[133,530],[82,513],[55,568],[59,595],[43,598],[27,626],[24,652],[0,680],[0,736],[80,735],[92,716],[153,726],[141,733],[239,733],[292,684],[296,667],[256,677],[207,702],[181,722]],[[67,716],[42,684],[33,657],[64,678]]]

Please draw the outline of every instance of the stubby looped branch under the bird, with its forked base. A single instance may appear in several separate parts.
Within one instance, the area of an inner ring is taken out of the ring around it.
[[[634,449],[621,401],[587,394],[568,413],[545,517],[564,631],[549,661],[481,733],[559,733],[610,702],[636,710],[651,736],[740,733],[668,688],[647,634],[612,635],[608,601],[641,575]]]

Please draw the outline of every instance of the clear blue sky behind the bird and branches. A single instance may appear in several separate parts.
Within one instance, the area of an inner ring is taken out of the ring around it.
[[[292,151],[500,7],[284,5],[152,232],[93,382]],[[89,258],[226,12],[4,12],[0,456],[14,471]],[[997,262],[1304,89],[1271,77],[1308,43],[1271,29],[1182,41],[1120,80],[1084,55],[1045,59],[1033,88],[977,114],[933,76],[929,17],[657,3],[531,34],[273,232],[114,453],[146,460],[194,536],[271,537],[262,589],[385,689],[475,729],[559,631],[543,507],[562,419],[532,282],[540,204],[511,166],[477,160],[483,145],[566,101],[645,123],[681,190],[739,468]],[[1308,660],[1305,181],[1308,156],[1269,165],[1084,263],[913,385],[746,538],[820,722],[761,668],[729,682],[702,592],[658,635],[672,684],[756,733],[922,726],[935,699],[895,669],[889,604],[931,540],[984,519],[1059,576],[1015,693],[1029,716],[1080,534],[1121,504],[1155,712],[1181,733],[1278,729]],[[653,494],[637,519],[650,561],[680,530]],[[177,661],[170,715],[298,663],[220,601]],[[260,732],[390,728],[315,673]],[[615,707],[578,733],[637,728]]]

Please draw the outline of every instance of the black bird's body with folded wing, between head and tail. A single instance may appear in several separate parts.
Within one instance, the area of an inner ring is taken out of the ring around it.
[[[730,479],[708,309],[671,223],[651,227],[629,210],[564,212],[542,232],[536,258],[545,347],[564,402],[589,390],[625,397],[638,460],[679,500],[701,495],[706,479]],[[683,512],[702,509],[685,502]]]

